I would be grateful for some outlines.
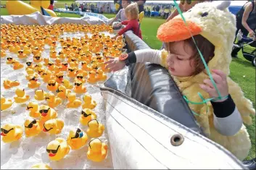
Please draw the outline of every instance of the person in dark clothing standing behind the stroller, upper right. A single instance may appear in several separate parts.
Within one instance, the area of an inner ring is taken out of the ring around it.
[[[247,1],[243,7],[236,14],[236,35],[241,30],[243,35],[248,35],[249,37],[255,36],[255,28],[256,28],[256,1]],[[236,41],[236,40],[235,40]],[[240,44],[241,41],[238,41],[237,44]],[[238,52],[241,48],[234,48],[231,56],[237,57]]]

